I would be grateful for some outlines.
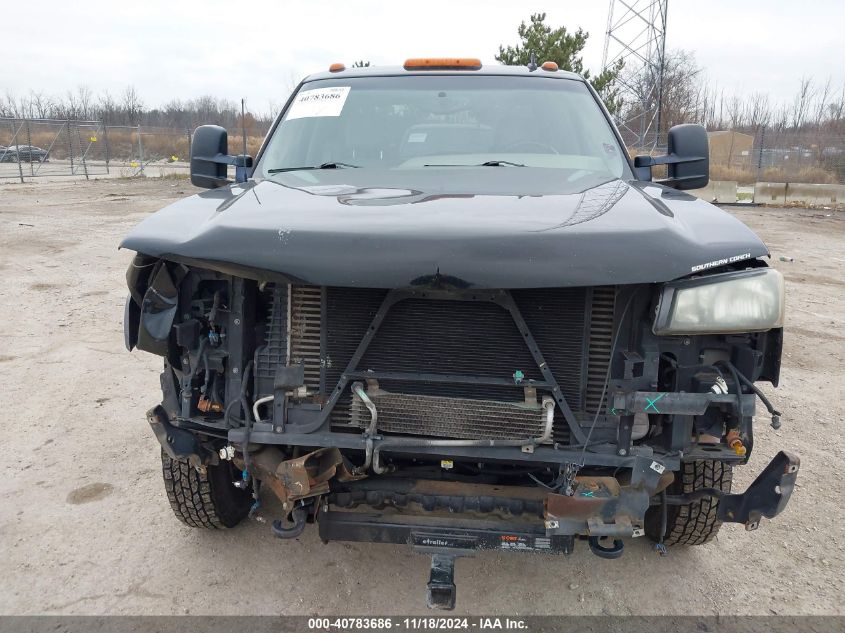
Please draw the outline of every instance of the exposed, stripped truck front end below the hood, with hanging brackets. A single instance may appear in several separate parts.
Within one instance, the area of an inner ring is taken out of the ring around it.
[[[758,284],[758,264],[717,273]],[[165,359],[156,437],[173,459],[231,462],[272,491],[280,538],[316,522],[326,541],[431,554],[430,606],[454,606],[454,559],[479,549],[586,540],[615,558],[626,538],[662,546],[672,508],[706,499],[714,522],[755,529],[791,495],[799,461],[783,452],[744,493],[683,477],[748,461],[758,397],[779,423],[754,383],[777,383],[782,330],[679,330],[677,297],[700,281],[669,296],[245,274],[133,262],[127,347]]]

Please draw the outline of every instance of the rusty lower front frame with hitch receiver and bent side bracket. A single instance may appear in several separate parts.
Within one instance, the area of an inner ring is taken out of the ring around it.
[[[666,495],[674,476],[658,461],[637,458],[630,480],[573,477],[566,490],[525,486],[410,479],[377,479],[355,470],[337,449],[321,448],[284,460],[275,448],[252,457],[255,476],[282,502],[286,520],[272,525],[279,538],[299,536],[310,520],[324,541],[410,544],[432,558],[427,604],[455,606],[455,559],[478,550],[571,554],[577,539],[586,540],[602,558],[622,556],[624,538],[644,534],[651,507],[683,505],[697,498],[719,500],[718,519],[759,526],[785,507],[799,460],[779,453],[741,494],[702,489]]]

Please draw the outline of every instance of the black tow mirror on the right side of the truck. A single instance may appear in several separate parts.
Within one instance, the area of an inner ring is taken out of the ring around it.
[[[656,181],[675,189],[700,189],[710,182],[710,145],[704,126],[684,124],[669,130],[666,156],[636,156],[638,180],[651,180],[651,168],[666,165],[668,177]]]

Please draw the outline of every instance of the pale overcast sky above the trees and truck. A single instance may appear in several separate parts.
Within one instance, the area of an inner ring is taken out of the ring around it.
[[[0,91],[64,94],[80,84],[148,105],[212,94],[266,111],[291,84],[335,61],[401,64],[406,57],[493,62],[532,12],[590,33],[598,70],[607,0],[41,0],[3,3]],[[695,52],[726,93],[791,100],[802,75],[845,82],[845,1],[669,0],[667,48]],[[542,60],[541,60],[542,61]]]

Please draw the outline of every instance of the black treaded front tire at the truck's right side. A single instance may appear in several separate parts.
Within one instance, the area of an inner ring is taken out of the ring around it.
[[[713,460],[684,462],[675,481],[666,494],[679,495],[702,488],[717,488],[731,491],[733,469],[730,464]],[[715,497],[703,497],[681,506],[668,506],[666,516],[665,545],[703,545],[711,541],[719,531],[722,522],[716,518],[719,501]],[[651,506],[645,515],[645,531],[648,537],[658,542],[661,529],[661,507]]]

